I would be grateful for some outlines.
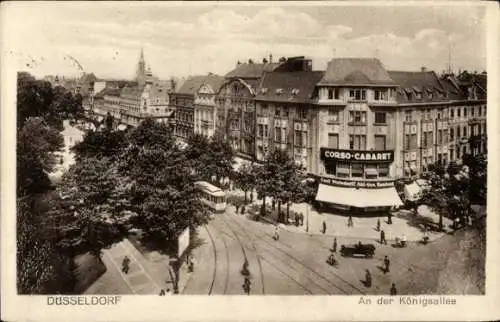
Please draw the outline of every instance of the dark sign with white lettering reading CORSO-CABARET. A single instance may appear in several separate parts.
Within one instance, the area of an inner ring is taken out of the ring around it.
[[[393,151],[352,151],[321,148],[321,159],[351,162],[392,162]]]

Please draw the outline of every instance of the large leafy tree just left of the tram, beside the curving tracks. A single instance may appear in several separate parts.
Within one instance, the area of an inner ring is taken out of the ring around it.
[[[174,240],[188,226],[206,223],[209,216],[193,184],[196,178],[171,130],[146,120],[129,138],[119,171],[132,183],[131,223],[160,243]]]

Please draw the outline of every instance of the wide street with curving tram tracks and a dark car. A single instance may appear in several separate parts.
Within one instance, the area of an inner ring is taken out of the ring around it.
[[[210,238],[207,245],[211,245],[212,254],[208,258],[212,259],[198,259],[184,294],[245,294],[241,274],[245,258],[251,274],[250,294],[388,294],[391,283],[396,283],[405,294],[422,294],[432,291],[438,284],[439,274],[435,274],[435,270],[446,266],[456,243],[455,236],[446,235],[426,246],[413,243],[400,249],[390,244],[380,245],[373,239],[362,239],[377,247],[373,258],[344,258],[338,254],[338,267],[331,267],[326,263],[332,247],[332,238],[328,236],[281,229],[280,238],[275,241],[273,225],[249,220],[231,210],[216,215],[203,229]],[[339,248],[359,240],[339,238]],[[429,256],[443,246],[450,252],[437,251]],[[387,274],[382,269],[385,255],[391,261]],[[370,270],[373,279],[370,288],[362,283],[366,269]],[[421,280],[422,276],[426,276],[425,281]],[[414,281],[416,277],[420,281]]]

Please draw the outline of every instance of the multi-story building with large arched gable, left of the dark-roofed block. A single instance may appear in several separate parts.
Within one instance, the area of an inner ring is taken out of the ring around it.
[[[217,125],[225,133],[237,155],[255,158],[256,111],[255,95],[264,72],[275,70],[280,63],[238,63],[225,75],[227,82],[215,99]]]

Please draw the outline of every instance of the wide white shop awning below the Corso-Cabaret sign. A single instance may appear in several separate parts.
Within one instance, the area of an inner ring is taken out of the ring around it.
[[[320,184],[316,200],[343,206],[366,207],[399,207],[403,203],[396,188],[356,189]]]

